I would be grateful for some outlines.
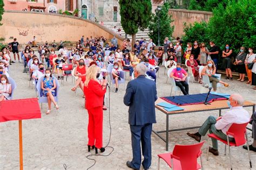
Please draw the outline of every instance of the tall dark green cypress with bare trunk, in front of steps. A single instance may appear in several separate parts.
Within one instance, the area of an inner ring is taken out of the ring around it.
[[[150,0],[119,0],[121,24],[126,34],[132,35],[132,48],[135,44],[136,33],[145,30],[152,17]]]

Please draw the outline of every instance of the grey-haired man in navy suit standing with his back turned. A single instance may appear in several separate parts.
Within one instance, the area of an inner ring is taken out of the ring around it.
[[[142,161],[140,141],[142,142],[143,168],[151,166],[151,131],[156,123],[154,102],[157,100],[156,83],[146,79],[146,66],[140,63],[134,69],[136,79],[127,84],[124,104],[129,106],[129,124],[132,134],[132,161],[126,165],[139,169]]]

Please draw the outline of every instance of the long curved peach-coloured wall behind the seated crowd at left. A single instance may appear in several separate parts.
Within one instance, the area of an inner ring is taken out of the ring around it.
[[[78,17],[18,11],[5,11],[2,17],[0,37],[4,37],[5,42],[17,38],[18,42],[27,43],[33,36],[38,42],[78,41],[82,35],[85,38],[105,36],[107,39],[115,35],[118,44],[122,44],[124,39],[96,22]]]

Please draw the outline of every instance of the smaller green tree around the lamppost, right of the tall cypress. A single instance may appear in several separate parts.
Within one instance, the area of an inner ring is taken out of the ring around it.
[[[163,45],[165,37],[172,37],[172,33],[174,30],[174,26],[170,24],[174,21],[172,20],[172,16],[169,15],[169,3],[164,3],[161,6],[161,10],[153,15],[152,21],[149,25],[149,36],[153,40],[153,42],[158,41],[158,16],[159,16],[159,37],[160,37],[160,45]]]

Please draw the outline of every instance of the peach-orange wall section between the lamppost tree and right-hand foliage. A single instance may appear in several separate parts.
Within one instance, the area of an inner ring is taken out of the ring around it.
[[[171,25],[174,25],[174,32],[172,37],[180,37],[183,32],[183,24],[193,24],[194,22],[208,22],[212,17],[212,12],[206,11],[192,11],[184,9],[170,9],[169,14],[172,15],[174,22]]]

